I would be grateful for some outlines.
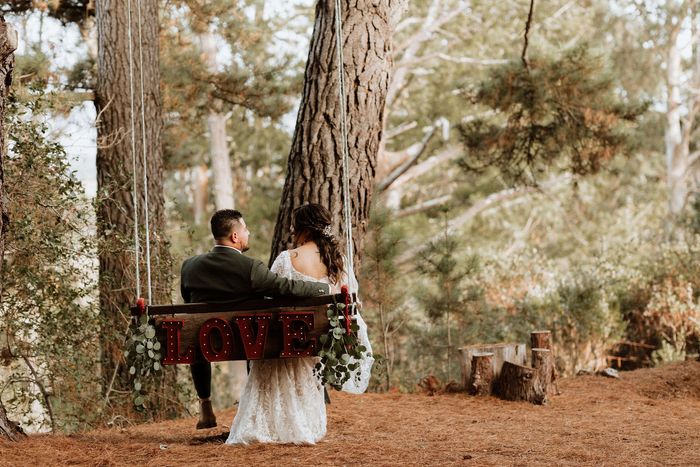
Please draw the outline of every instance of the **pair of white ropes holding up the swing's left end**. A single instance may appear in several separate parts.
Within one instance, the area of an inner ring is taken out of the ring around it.
[[[151,229],[148,216],[148,165],[147,165],[147,147],[146,147],[146,109],[144,97],[144,79],[143,79],[143,39],[141,37],[142,20],[141,20],[141,2],[138,4],[138,41],[139,41],[139,72],[141,79],[141,142],[143,145],[143,191],[144,191],[144,219],[146,229],[146,277],[148,285],[148,304],[152,304],[151,293]],[[136,297],[141,297],[141,266],[140,266],[140,241],[139,241],[139,205],[138,205],[138,186],[136,182],[136,126],[134,117],[134,54],[133,54],[133,33],[131,30],[131,0],[127,2],[128,16],[128,39],[129,39],[129,92],[130,92],[130,113],[131,113],[131,160],[133,170],[133,203],[134,203],[134,255],[136,263]]]

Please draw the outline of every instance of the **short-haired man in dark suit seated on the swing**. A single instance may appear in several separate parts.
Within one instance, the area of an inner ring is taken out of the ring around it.
[[[211,218],[216,245],[208,253],[182,263],[180,292],[185,303],[240,302],[253,298],[295,295],[313,297],[330,293],[328,284],[290,280],[271,272],[262,262],[243,255],[248,250],[248,227],[233,209],[216,211]],[[197,429],[216,426],[211,407],[211,364],[197,351],[190,365],[199,396]]]

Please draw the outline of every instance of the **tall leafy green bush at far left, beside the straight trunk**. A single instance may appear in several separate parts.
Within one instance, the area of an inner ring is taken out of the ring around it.
[[[75,430],[100,412],[92,210],[64,149],[48,139],[47,96],[25,97],[12,96],[5,115],[0,397],[25,427]]]

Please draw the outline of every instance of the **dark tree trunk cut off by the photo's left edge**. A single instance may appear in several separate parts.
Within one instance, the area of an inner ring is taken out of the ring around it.
[[[5,232],[7,231],[7,208],[3,203],[5,183],[5,98],[12,83],[12,70],[15,65],[13,52],[17,49],[17,31],[5,23],[0,15],[0,268],[5,255]],[[2,282],[0,282],[0,297],[2,297]],[[0,400],[0,439],[17,441],[24,432],[15,422],[7,419],[5,407]]]

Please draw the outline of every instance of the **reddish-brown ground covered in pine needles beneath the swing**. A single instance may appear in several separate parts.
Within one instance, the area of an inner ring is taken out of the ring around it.
[[[0,442],[0,465],[700,465],[700,363],[560,381],[546,406],[332,393],[315,446],[223,444],[195,420]]]

